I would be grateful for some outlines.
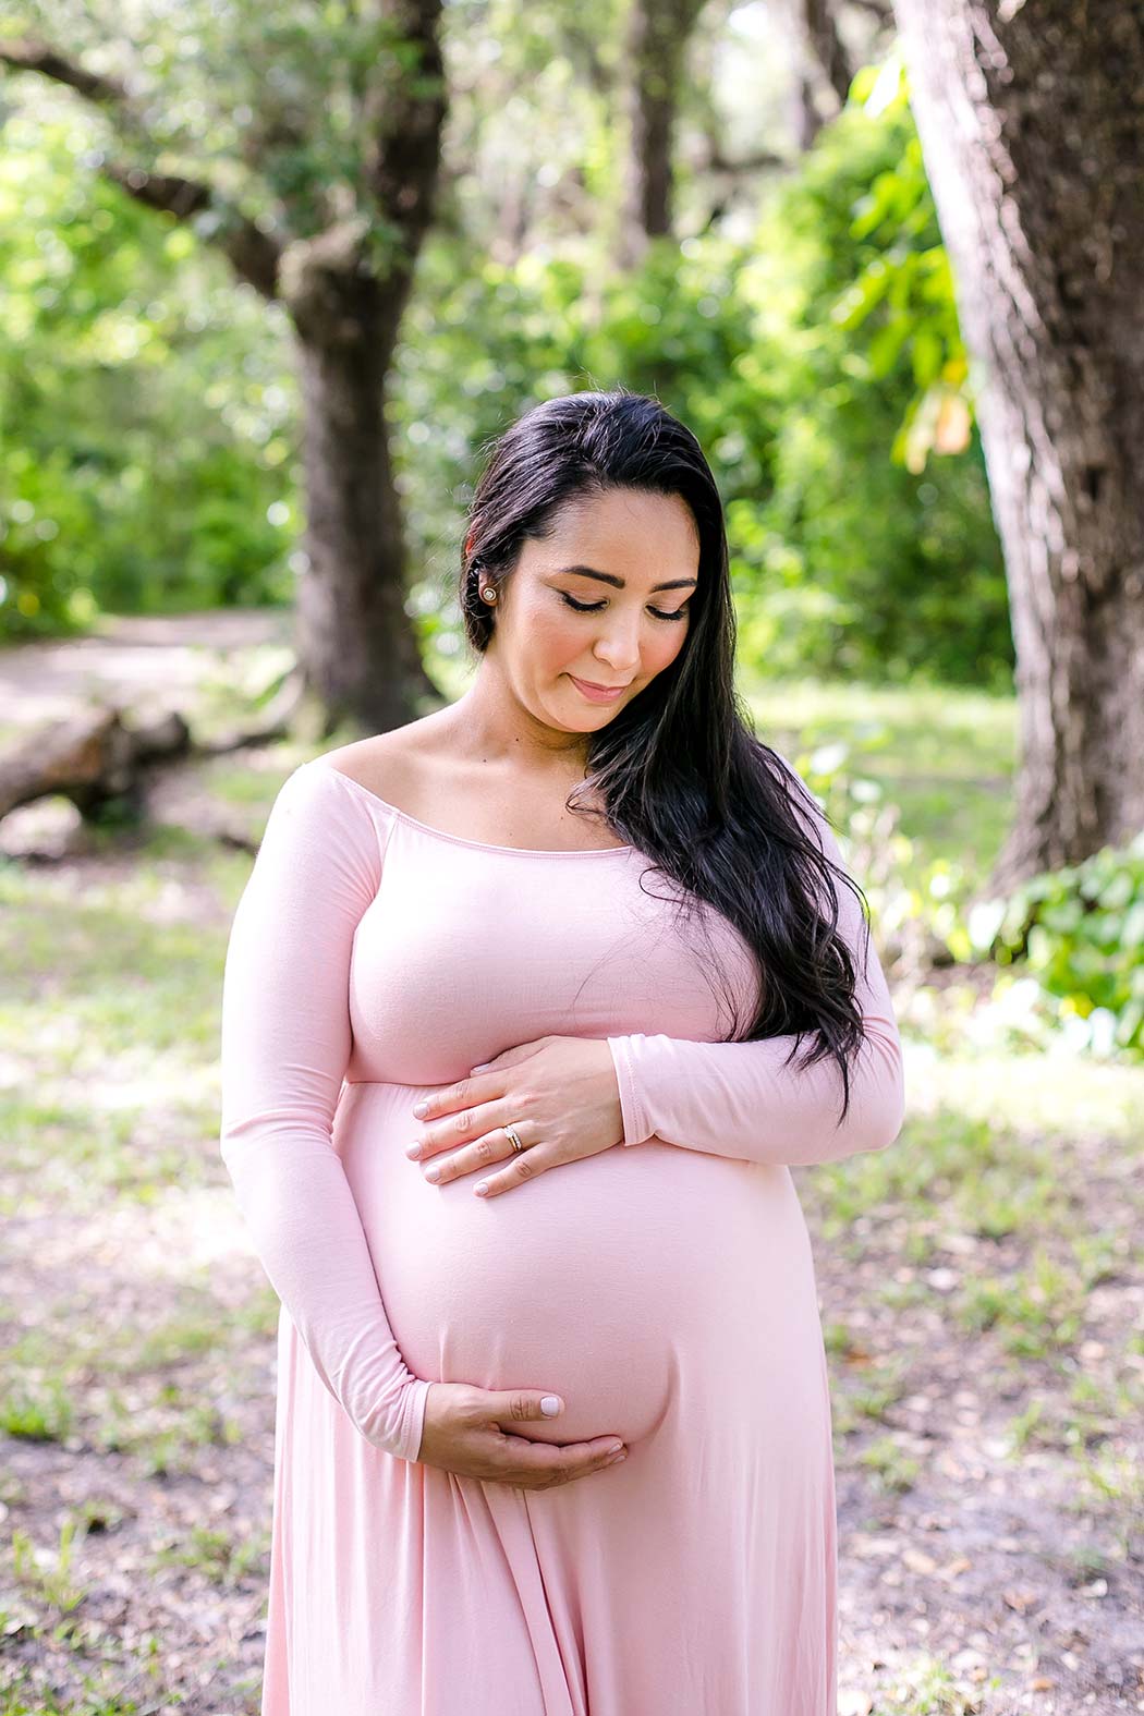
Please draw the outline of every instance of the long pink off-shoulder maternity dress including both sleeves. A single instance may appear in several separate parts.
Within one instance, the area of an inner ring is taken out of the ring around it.
[[[262,1716],[835,1716],[789,1169],[894,1141],[899,1035],[840,889],[868,1042],[837,1129],[832,1059],[720,1040],[719,971],[750,1000],[753,958],[672,889],[629,846],[441,832],[324,757],[274,800],[223,985],[221,1150],[281,1299]],[[616,1148],[492,1199],[429,1184],[418,1093],[551,1033],[607,1038]],[[432,1381],[552,1390],[523,1435],[628,1459],[554,1489],[420,1465]]]

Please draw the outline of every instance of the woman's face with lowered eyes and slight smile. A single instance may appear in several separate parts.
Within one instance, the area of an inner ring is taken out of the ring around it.
[[[669,668],[688,635],[700,539],[677,494],[609,489],[527,539],[494,607],[491,650],[547,726],[593,733]],[[595,697],[592,686],[617,688]]]

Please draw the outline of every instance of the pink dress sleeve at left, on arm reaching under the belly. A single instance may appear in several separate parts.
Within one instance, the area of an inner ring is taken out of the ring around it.
[[[355,927],[376,827],[331,770],[281,786],[232,921],[221,1004],[221,1155],[269,1282],[357,1429],[405,1460],[429,1383],[393,1337],[333,1119],[350,1059]]]

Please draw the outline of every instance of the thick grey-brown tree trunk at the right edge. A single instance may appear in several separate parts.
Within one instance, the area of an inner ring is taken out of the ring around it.
[[[1144,825],[1144,22],[1120,0],[897,19],[1009,575],[1002,892]]]

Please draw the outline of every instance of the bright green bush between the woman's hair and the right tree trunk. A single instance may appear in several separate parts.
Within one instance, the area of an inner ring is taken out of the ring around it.
[[[750,362],[777,424],[762,505],[729,508],[744,652],[780,674],[1000,692],[1003,559],[948,263],[888,74],[892,98],[875,100],[885,76],[856,79],[768,201],[744,271],[763,336]]]

